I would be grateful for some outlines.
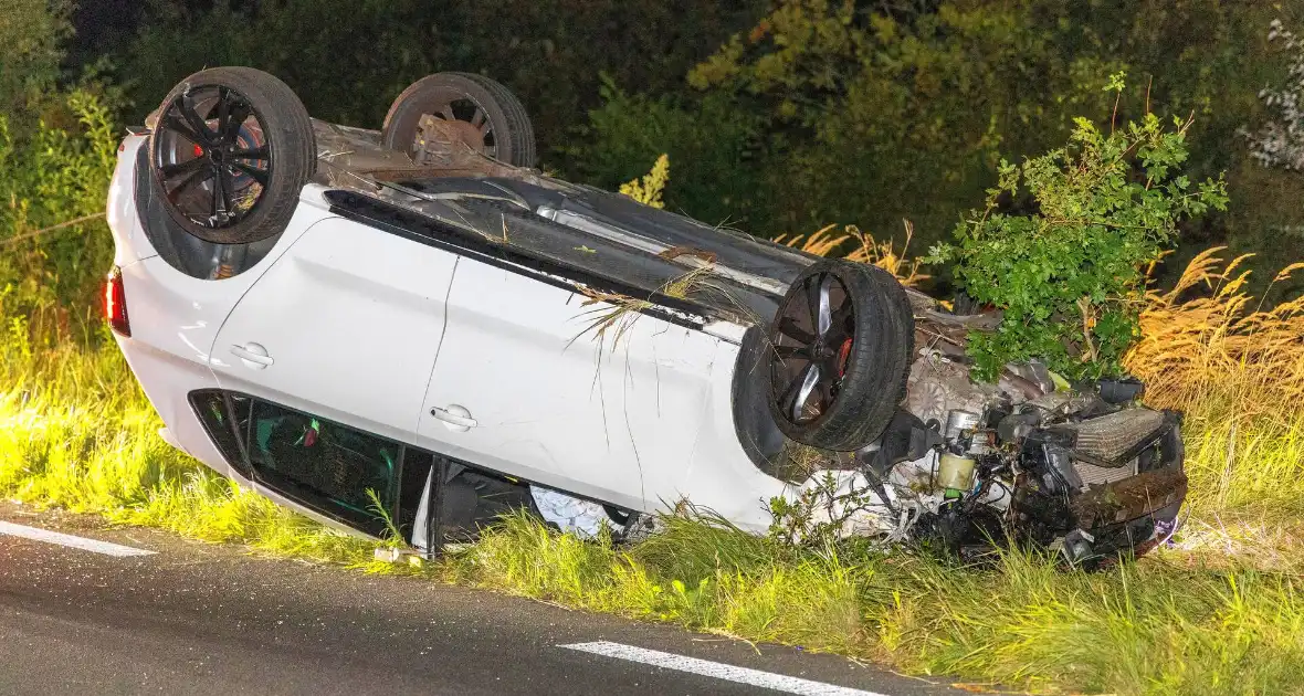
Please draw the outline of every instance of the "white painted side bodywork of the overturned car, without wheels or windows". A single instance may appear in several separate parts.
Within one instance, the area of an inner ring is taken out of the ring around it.
[[[235,471],[188,401],[196,390],[265,398],[630,511],[690,500],[755,532],[771,498],[803,487],[758,469],[735,435],[745,327],[644,315],[618,345],[595,340],[585,317],[612,305],[334,215],[317,184],[266,258],[192,278],[143,232],[146,141],[124,141],[110,193],[132,331],[117,341],[170,438],[214,471],[339,525]]]

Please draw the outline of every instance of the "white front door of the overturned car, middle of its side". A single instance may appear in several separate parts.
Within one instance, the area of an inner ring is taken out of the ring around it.
[[[615,308],[584,301],[565,284],[463,258],[419,442],[489,469],[643,510],[647,467],[691,456],[692,409],[700,399],[670,362],[635,361],[631,369],[629,356],[647,353],[657,332],[669,345],[682,343],[689,330],[626,314],[599,336],[593,323]],[[657,420],[659,395],[666,409],[687,404],[678,420]]]

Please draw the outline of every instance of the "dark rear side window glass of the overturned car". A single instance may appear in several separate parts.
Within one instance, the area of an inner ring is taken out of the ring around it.
[[[253,403],[245,442],[262,484],[370,533],[385,534],[381,510],[393,519],[398,498],[403,450],[398,442],[259,400]]]

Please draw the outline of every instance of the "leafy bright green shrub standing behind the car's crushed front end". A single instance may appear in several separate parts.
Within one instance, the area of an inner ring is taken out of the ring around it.
[[[1103,133],[1078,119],[1068,147],[1022,167],[1001,162],[987,207],[931,254],[955,261],[965,291],[1004,312],[996,332],[971,336],[977,377],[1033,357],[1074,378],[1120,371],[1138,336],[1142,268],[1175,242],[1179,220],[1227,203],[1221,179],[1192,185],[1181,175],[1189,126],[1168,130],[1148,113]],[[1024,190],[1035,212],[1001,212],[1003,197]]]

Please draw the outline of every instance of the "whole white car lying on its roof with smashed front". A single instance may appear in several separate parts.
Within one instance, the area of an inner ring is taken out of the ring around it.
[[[974,383],[992,317],[541,175],[480,76],[374,132],[205,70],[119,156],[106,312],[166,437],[338,527],[433,551],[511,508],[619,530],[689,500],[760,532],[832,472],[854,533],[1088,562],[1185,495],[1178,414],[1137,384]]]

